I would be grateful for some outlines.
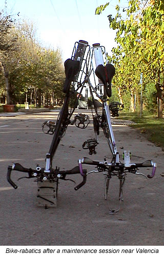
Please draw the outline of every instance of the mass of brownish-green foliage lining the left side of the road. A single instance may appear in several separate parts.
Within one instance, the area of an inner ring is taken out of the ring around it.
[[[0,29],[8,19],[0,19]],[[33,24],[13,25],[7,24],[6,33],[0,35],[0,90],[6,89],[8,104],[33,91],[63,99],[65,73],[60,50],[41,47]]]

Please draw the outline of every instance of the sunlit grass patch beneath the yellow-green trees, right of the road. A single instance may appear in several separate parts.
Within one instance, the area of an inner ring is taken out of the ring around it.
[[[149,112],[143,112],[141,117],[137,112],[120,112],[119,119],[135,122],[136,124],[131,127],[139,130],[149,141],[164,149],[164,119],[157,119],[155,114]]]

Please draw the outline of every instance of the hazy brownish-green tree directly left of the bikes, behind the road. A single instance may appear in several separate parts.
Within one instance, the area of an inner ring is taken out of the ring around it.
[[[24,90],[35,93],[40,106],[40,96],[45,95],[51,98],[53,104],[54,97],[63,99],[64,67],[60,50],[52,50],[41,47],[36,42],[36,29],[31,22],[23,21],[17,26],[18,35],[22,42],[22,71],[23,77],[19,79]],[[21,82],[22,80],[22,82]],[[44,102],[45,104],[45,102]]]

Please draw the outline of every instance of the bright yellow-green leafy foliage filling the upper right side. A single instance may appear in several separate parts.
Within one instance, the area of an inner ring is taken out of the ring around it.
[[[100,10],[106,7],[101,6]],[[110,28],[117,31],[115,41],[118,45],[113,48],[109,60],[116,68],[114,83],[121,91],[119,97],[129,91],[132,109],[134,94],[140,94],[138,84],[142,72],[145,105],[149,110],[154,109],[155,101],[150,99],[155,99],[155,92],[147,86],[152,81],[158,97],[158,117],[161,117],[164,89],[164,3],[162,0],[131,0],[129,7],[123,10],[127,12],[125,19],[118,5],[116,11],[115,17],[108,15]]]

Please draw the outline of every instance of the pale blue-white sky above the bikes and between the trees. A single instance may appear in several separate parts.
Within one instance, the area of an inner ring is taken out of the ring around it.
[[[16,19],[32,21],[37,31],[37,41],[43,47],[60,48],[63,60],[72,55],[75,42],[84,40],[90,46],[100,43],[106,52],[116,46],[115,31],[109,28],[108,15],[115,16],[118,0],[6,0],[7,12]],[[100,15],[97,6],[109,2]],[[120,0],[121,8],[128,7],[127,0]],[[0,10],[5,0],[0,0]],[[19,13],[19,16],[16,14]]]

